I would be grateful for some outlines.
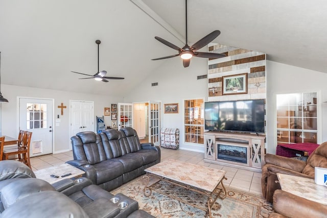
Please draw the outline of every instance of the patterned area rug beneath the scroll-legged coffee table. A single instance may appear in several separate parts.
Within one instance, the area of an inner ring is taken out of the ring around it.
[[[186,190],[179,186],[173,185],[165,181],[159,181],[152,178],[149,184],[154,184],[153,188],[160,191],[168,191],[170,195],[176,195],[186,202],[192,201],[198,205],[205,205],[206,201],[202,200],[203,195],[200,193]],[[111,191],[114,195],[116,193],[123,193],[124,195],[136,200],[139,208],[147,211],[158,218],[169,217],[205,217],[206,212],[185,204],[176,199],[162,195],[161,193],[153,190],[149,197],[143,193],[143,188],[147,182],[143,176],[138,177],[119,188]],[[156,183],[157,182],[157,183]],[[261,218],[268,217],[273,211],[272,205],[266,202],[263,197],[255,195],[250,192],[242,191],[239,189],[226,187],[227,196],[225,199],[217,199],[215,205],[212,207],[212,217],[242,217],[242,218]]]

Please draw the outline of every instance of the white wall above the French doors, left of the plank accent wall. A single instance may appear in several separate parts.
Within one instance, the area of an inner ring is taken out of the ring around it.
[[[183,104],[186,99],[204,99],[207,96],[207,79],[197,80],[197,76],[207,74],[207,59],[192,58],[189,67],[184,68],[179,57],[162,61],[162,65],[151,73],[142,84],[139,84],[125,102],[161,101],[164,104],[178,103],[178,114],[165,114],[161,111],[161,127],[178,128],[180,130],[180,149],[204,152],[203,146],[190,146],[183,141]],[[158,82],[158,86],[151,83]]]

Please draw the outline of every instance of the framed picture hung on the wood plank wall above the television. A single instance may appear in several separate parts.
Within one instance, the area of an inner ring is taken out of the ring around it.
[[[223,94],[246,94],[247,93],[247,73],[224,76]]]

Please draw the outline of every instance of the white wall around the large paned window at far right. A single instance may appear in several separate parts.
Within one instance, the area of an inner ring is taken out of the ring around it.
[[[327,141],[327,74],[273,61],[267,61],[267,101],[266,101],[266,147],[267,153],[276,152],[276,94],[296,92],[318,92],[321,99],[317,99],[318,135],[317,143]],[[321,107],[319,107],[321,106]],[[321,110],[320,110],[321,109]],[[320,124],[320,126],[319,126]]]

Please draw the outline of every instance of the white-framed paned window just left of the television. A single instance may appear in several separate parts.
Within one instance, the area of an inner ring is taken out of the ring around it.
[[[184,101],[184,141],[203,144],[204,100]]]

